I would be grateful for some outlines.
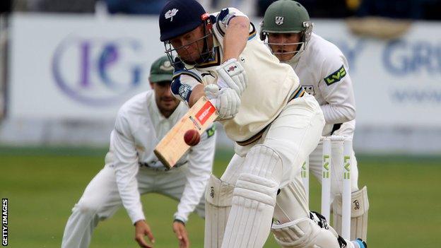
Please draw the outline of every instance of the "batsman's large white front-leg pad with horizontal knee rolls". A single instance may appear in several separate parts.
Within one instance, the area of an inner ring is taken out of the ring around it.
[[[281,158],[267,146],[254,146],[233,191],[223,248],[261,248],[271,229],[276,192],[281,179]]]

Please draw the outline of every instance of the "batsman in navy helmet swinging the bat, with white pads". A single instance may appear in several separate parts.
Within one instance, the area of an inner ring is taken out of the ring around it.
[[[290,221],[277,232],[286,247],[341,247],[307,210],[300,166],[319,143],[324,117],[293,69],[279,63],[235,8],[210,15],[195,0],[170,0],[159,26],[175,66],[173,94],[189,106],[206,95],[235,141],[224,174],[208,182],[205,247],[263,247],[274,214]],[[283,209],[276,194],[293,179],[298,208]]]

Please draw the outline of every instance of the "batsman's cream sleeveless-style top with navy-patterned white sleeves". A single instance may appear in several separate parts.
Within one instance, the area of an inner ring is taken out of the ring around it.
[[[190,71],[191,76],[186,75],[186,70],[177,71],[180,73],[181,83],[180,95],[177,97],[181,100],[184,100],[189,90],[198,83],[217,84],[216,67],[222,62],[223,36],[230,19],[235,16],[245,15],[236,8],[224,8],[218,13],[211,14],[211,18],[215,20],[213,21],[215,59],[187,70]],[[233,141],[245,141],[274,121],[299,86],[298,76],[293,69],[287,64],[279,63],[264,43],[255,37],[256,34],[256,28],[250,24],[247,45],[238,59],[248,78],[247,88],[240,98],[242,104],[239,112],[233,119],[221,122],[225,133]]]

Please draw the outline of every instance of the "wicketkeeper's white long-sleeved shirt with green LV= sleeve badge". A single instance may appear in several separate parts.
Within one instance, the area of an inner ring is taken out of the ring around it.
[[[300,85],[322,107],[326,121],[323,135],[329,135],[334,124],[343,123],[334,134],[353,136],[355,98],[348,61],[340,49],[312,33],[305,51],[290,61],[290,66],[300,78]]]

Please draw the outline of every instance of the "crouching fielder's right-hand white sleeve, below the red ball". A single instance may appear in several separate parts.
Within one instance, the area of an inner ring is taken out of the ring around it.
[[[214,125],[201,136],[201,141],[189,152],[189,170],[184,192],[177,205],[175,219],[187,222],[188,216],[194,211],[204,196],[206,184],[213,169],[216,134]]]

